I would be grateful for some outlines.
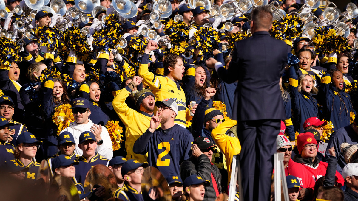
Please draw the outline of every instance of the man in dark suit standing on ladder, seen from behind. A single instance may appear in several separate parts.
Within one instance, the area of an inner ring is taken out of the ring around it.
[[[245,201],[269,200],[275,140],[285,110],[279,81],[289,46],[270,36],[272,12],[267,6],[252,11],[251,37],[234,44],[229,68],[210,58],[208,68],[215,68],[227,83],[238,80],[233,119],[241,144],[240,164]]]

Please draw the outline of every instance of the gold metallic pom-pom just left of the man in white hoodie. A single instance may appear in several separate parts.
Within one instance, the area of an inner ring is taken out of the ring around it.
[[[55,108],[55,114],[52,116],[52,121],[57,125],[57,135],[60,131],[69,127],[69,123],[74,122],[72,109],[70,104],[64,104]]]

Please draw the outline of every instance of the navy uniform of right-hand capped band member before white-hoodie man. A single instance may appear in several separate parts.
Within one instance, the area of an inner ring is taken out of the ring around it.
[[[95,165],[102,164],[108,167],[108,163],[110,160],[108,160],[105,157],[100,156],[98,153],[96,153],[95,156],[91,158],[90,161],[87,161],[86,158],[83,156],[79,158],[79,164],[76,165],[76,182],[83,184],[84,180],[86,179],[87,172]]]

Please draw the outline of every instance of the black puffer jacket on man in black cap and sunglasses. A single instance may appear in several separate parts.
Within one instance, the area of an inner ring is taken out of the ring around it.
[[[205,187],[204,201],[214,201],[216,199],[213,181],[211,180],[211,173],[213,173],[218,186],[218,191],[221,193],[223,190],[223,187],[221,186],[221,173],[218,167],[211,164],[206,155],[202,154],[198,158],[195,158],[192,155],[180,165],[180,177],[183,181],[190,175],[198,175],[204,180],[210,181],[210,186]]]

